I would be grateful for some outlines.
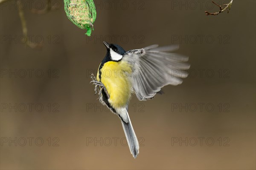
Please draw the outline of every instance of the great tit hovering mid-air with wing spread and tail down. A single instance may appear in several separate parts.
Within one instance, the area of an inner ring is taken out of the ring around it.
[[[131,95],[135,93],[140,101],[145,101],[161,92],[163,86],[181,84],[181,78],[188,76],[189,58],[171,53],[178,45],[152,45],[125,52],[117,44],[103,43],[107,54],[99,65],[97,77],[92,74],[91,82],[95,84],[95,92],[99,91],[100,102],[119,116],[131,154],[136,158],[139,142],[128,115]]]

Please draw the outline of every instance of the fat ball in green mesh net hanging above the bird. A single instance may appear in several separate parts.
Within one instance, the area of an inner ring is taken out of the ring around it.
[[[87,29],[90,36],[96,20],[96,9],[93,0],[64,0],[67,17],[79,28]]]

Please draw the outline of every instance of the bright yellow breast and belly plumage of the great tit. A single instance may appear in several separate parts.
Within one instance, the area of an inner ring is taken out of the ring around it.
[[[131,98],[131,65],[124,61],[106,62],[101,69],[101,82],[110,95],[109,102],[115,106],[127,104]],[[97,74],[99,81],[99,72]]]

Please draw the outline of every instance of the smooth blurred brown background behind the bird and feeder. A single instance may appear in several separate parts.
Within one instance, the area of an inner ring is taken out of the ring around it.
[[[254,0],[234,0],[218,16],[204,14],[219,10],[211,1],[98,0],[91,37],[68,20],[62,0],[46,14],[23,2],[28,35],[34,43],[43,38],[43,46],[19,40],[15,1],[0,5],[1,169],[256,168]],[[164,87],[151,101],[132,99],[136,160],[119,118],[89,84],[105,56],[103,40],[126,50],[179,43],[177,52],[190,56],[182,85]]]

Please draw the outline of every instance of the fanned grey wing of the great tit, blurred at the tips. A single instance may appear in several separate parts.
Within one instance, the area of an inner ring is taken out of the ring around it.
[[[133,88],[140,101],[153,98],[163,86],[181,84],[181,78],[188,76],[189,57],[171,53],[178,48],[178,45],[152,45],[125,53],[122,60],[133,66]]]

